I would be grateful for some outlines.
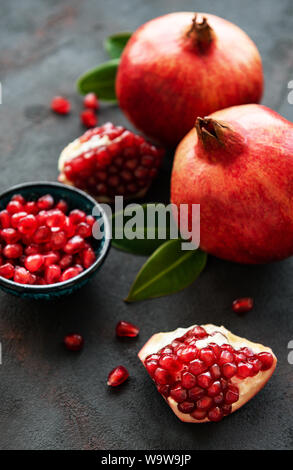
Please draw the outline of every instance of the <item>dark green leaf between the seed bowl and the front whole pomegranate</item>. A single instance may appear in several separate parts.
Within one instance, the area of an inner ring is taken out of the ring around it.
[[[153,221],[153,224],[147,223],[148,208],[158,205],[163,204],[142,204],[140,207],[142,207],[144,212],[143,224],[135,224],[133,227],[127,225],[127,221],[133,217],[132,213],[127,214],[125,210],[116,212],[112,217],[112,245],[118,250],[127,251],[136,255],[149,256],[159,246],[165,243],[166,240],[169,240],[171,230],[170,217],[166,217],[166,223],[163,223],[162,226],[159,226],[157,218]],[[132,205],[132,207],[136,207],[136,205]],[[120,238],[118,238],[118,234],[115,230],[116,225],[121,235]],[[131,239],[134,232],[141,236],[141,238]],[[159,238],[160,236],[164,236],[164,238]]]

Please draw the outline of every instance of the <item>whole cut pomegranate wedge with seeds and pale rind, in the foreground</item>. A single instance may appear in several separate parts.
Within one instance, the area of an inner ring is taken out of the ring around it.
[[[273,374],[272,350],[223,326],[153,335],[138,354],[179,419],[220,421],[250,400]]]

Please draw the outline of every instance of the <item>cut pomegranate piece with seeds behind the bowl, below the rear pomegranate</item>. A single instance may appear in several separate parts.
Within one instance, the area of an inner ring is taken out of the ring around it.
[[[161,166],[164,150],[111,123],[88,130],[60,155],[59,181],[109,202],[142,197]]]

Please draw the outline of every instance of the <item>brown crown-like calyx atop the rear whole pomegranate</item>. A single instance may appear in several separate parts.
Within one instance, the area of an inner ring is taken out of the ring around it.
[[[188,29],[186,36],[192,40],[193,45],[196,44],[201,53],[204,53],[211,46],[215,33],[209,25],[207,18],[195,13],[192,25]]]

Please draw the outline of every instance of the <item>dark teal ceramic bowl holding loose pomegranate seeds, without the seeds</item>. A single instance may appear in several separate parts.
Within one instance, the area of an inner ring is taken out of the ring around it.
[[[21,194],[27,200],[35,200],[44,194],[50,193],[55,200],[64,199],[69,210],[81,209],[87,214],[92,214],[95,207],[96,217],[100,225],[103,238],[101,240],[92,240],[91,244],[96,253],[97,259],[88,269],[78,276],[68,281],[58,282],[48,286],[34,286],[29,284],[18,284],[10,279],[0,277],[0,288],[9,294],[17,295],[30,299],[53,299],[62,295],[69,295],[80,287],[84,286],[90,278],[98,271],[106,259],[110,248],[110,225],[100,204],[98,204],[88,194],[71,186],[65,186],[61,183],[24,183],[14,186],[4,193],[0,194],[0,210],[5,209],[6,205],[14,194]]]

